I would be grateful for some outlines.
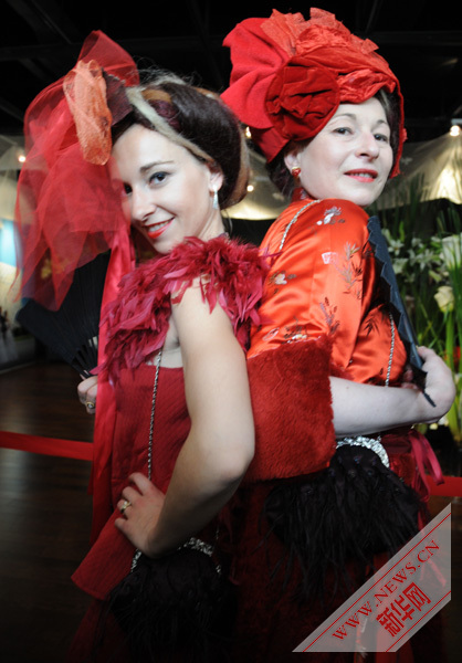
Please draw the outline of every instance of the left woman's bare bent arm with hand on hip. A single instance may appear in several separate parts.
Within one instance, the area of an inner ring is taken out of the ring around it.
[[[229,501],[254,452],[254,428],[245,357],[227,314],[210,313],[198,288],[175,306],[190,433],[164,496],[136,474],[123,492],[132,507],[116,526],[155,557],[198,534]],[[145,481],[146,480],[146,481]]]

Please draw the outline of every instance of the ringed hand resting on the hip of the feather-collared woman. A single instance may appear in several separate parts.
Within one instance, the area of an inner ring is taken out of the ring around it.
[[[151,541],[165,495],[140,472],[132,474],[129,481],[132,485],[123,490],[123,499],[117,503],[122,515],[115,526],[135,548],[154,557]]]

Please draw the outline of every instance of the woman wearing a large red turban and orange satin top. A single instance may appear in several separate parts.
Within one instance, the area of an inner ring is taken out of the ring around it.
[[[406,137],[399,82],[376,45],[319,9],[248,19],[224,45],[222,98],[293,193],[262,242],[274,257],[248,354],[256,449],[233,509],[235,660],[281,662],[418,532],[426,465],[439,467],[411,425],[447,411],[453,385],[406,334],[365,211]],[[400,388],[408,361],[416,376],[423,361],[427,393]],[[333,415],[338,378],[350,380],[355,435]]]

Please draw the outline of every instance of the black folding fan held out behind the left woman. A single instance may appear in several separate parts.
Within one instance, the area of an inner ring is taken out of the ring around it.
[[[29,299],[17,320],[32,336],[83,377],[97,365],[101,303],[109,253],[75,270],[72,285],[57,311]]]

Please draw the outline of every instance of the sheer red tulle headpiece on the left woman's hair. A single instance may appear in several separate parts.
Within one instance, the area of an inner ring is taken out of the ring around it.
[[[139,83],[128,53],[92,32],[73,72],[43,90],[25,114],[18,266],[22,296],[51,309],[61,306],[77,267],[115,245],[129,251],[129,222],[107,166],[112,113],[105,97],[113,77],[119,85]]]

